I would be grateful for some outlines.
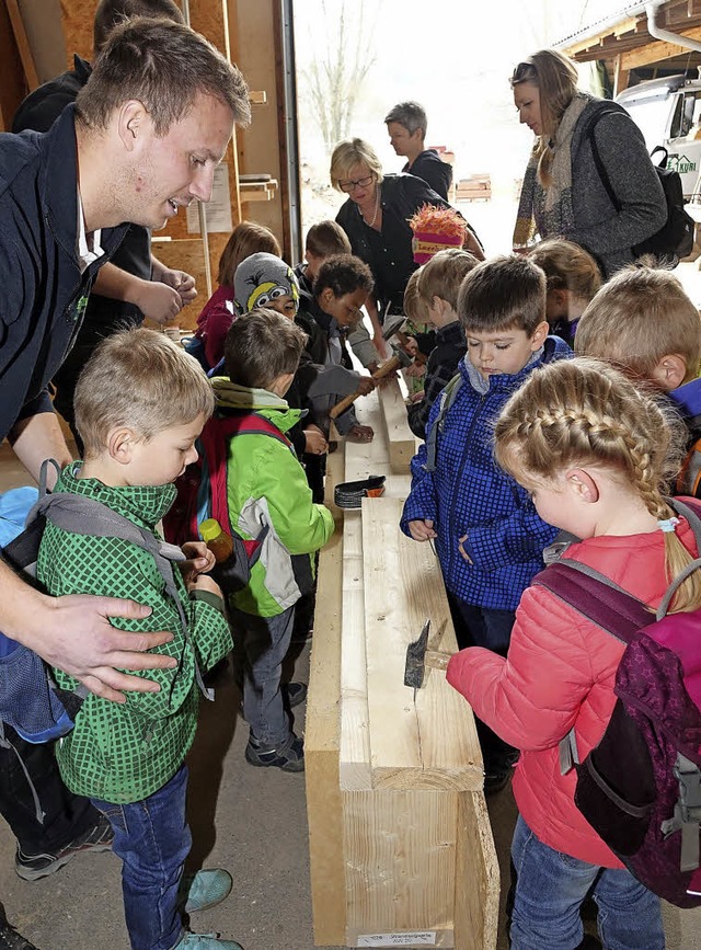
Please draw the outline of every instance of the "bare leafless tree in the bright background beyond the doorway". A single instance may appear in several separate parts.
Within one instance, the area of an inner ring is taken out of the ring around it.
[[[324,145],[331,151],[347,138],[363,83],[375,64],[367,44],[367,37],[375,35],[375,22],[366,21],[365,0],[350,4],[321,0],[321,11],[325,37],[314,44],[313,58],[301,76]]]

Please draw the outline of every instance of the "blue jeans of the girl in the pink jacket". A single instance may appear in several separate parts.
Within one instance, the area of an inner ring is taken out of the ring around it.
[[[659,899],[625,870],[599,868],[538,840],[519,815],[512,843],[518,875],[512,950],[574,950],[584,928],[579,906],[591,893],[605,950],[664,950]]]

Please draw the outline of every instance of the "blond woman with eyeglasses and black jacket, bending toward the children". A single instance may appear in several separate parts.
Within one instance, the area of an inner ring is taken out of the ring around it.
[[[375,294],[368,297],[366,309],[375,343],[384,355],[382,320],[388,313],[402,312],[406,283],[418,267],[407,219],[425,204],[450,205],[422,179],[410,174],[384,176],[375,150],[360,138],[342,141],[333,150],[331,183],[348,195],[336,221],[348,236],[353,253],[368,264],[375,277]],[[471,231],[466,249],[484,260]]]

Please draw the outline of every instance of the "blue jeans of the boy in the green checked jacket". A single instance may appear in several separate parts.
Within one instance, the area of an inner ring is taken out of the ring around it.
[[[131,950],[171,950],[183,932],[180,882],[192,838],[185,820],[187,769],[140,802],[92,799],[114,828],[122,858],[124,915]]]

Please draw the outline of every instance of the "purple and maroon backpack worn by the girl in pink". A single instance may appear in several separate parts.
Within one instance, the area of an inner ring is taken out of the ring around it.
[[[701,550],[701,506],[670,501]],[[653,616],[598,571],[561,559],[547,587],[625,643],[618,697],[599,744],[579,762],[574,730],[560,743],[563,775],[577,769],[575,804],[629,871],[678,907],[701,905],[701,610],[667,615],[675,579]]]

